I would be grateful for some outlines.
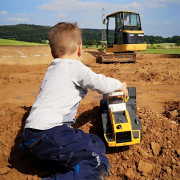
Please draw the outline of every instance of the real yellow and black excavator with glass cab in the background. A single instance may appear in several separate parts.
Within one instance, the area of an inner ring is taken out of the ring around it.
[[[135,62],[135,52],[147,49],[139,14],[118,11],[106,16],[106,20],[107,45],[102,62]]]

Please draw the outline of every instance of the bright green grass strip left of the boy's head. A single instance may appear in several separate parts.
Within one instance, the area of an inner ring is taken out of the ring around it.
[[[30,43],[24,41],[16,41],[16,40],[9,40],[9,39],[0,39],[0,46],[44,46],[47,44],[40,44],[40,43]]]

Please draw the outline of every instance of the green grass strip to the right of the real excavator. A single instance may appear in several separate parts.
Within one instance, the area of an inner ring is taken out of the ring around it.
[[[176,49],[147,49],[146,51],[139,51],[138,53],[149,53],[149,54],[180,54],[180,48],[176,48]]]

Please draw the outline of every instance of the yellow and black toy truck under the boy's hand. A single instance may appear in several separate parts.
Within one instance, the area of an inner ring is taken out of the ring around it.
[[[109,147],[140,143],[142,127],[136,117],[136,88],[127,88],[129,97],[123,92],[104,94],[100,101],[100,113],[104,139]]]

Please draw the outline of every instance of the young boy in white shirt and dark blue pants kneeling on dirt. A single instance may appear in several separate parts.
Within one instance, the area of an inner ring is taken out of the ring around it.
[[[46,180],[106,179],[110,166],[102,140],[71,125],[87,88],[101,94],[122,90],[128,96],[127,84],[96,74],[81,63],[82,35],[77,24],[62,22],[52,27],[49,43],[54,60],[26,120],[22,147],[65,169]]]

